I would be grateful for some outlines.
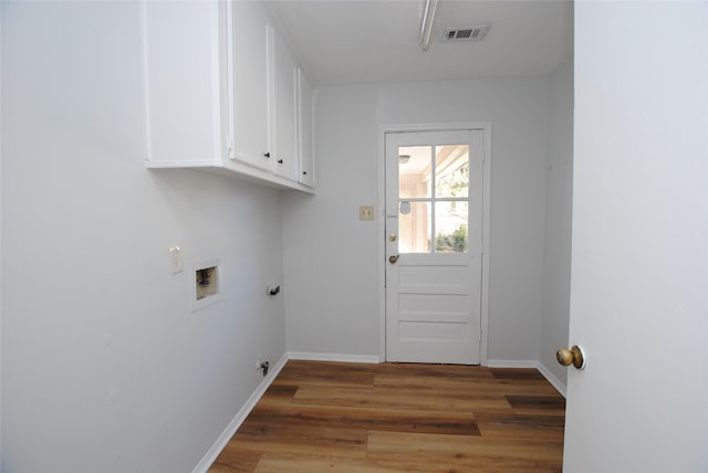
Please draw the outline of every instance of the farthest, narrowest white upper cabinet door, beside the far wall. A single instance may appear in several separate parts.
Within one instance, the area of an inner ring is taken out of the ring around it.
[[[314,187],[314,123],[315,95],[308,76],[298,69],[298,182]]]

